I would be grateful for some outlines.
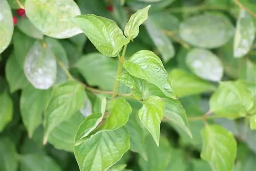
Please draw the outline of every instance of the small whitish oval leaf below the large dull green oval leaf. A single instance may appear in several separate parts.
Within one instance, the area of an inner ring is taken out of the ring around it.
[[[223,65],[215,54],[205,49],[193,49],[187,53],[187,66],[199,77],[220,81],[223,76]]]

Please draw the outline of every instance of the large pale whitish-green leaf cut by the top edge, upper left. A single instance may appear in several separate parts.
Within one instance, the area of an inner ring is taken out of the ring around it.
[[[81,15],[72,0],[26,1],[26,15],[41,33],[54,38],[68,38],[81,33],[69,18]]]

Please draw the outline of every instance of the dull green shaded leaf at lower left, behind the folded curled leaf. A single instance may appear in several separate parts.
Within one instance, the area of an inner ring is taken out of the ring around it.
[[[48,142],[50,142],[56,149],[73,153],[76,131],[82,120],[83,116],[80,112],[77,112],[69,120],[63,121],[52,130]]]

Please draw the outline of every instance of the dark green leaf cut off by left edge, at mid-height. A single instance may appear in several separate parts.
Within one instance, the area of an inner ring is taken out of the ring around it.
[[[12,120],[13,102],[7,91],[0,91],[0,133]]]

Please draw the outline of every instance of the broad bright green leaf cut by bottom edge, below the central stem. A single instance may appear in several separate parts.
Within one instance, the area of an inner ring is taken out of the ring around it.
[[[74,152],[81,171],[101,171],[119,161],[129,148],[129,133],[120,127],[114,131],[103,131],[92,135],[75,146]]]

